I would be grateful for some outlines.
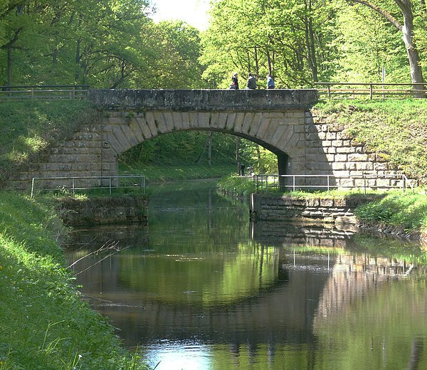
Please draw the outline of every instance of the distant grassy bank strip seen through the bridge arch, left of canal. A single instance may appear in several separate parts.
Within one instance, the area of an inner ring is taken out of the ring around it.
[[[150,182],[179,181],[192,179],[219,179],[236,172],[234,164],[216,164],[201,166],[196,164],[136,164],[133,166],[120,164],[120,174],[144,174],[149,186]]]

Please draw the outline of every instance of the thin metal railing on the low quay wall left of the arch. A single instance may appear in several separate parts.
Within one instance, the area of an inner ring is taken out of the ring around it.
[[[36,184],[40,186],[36,186]],[[44,185],[44,186],[42,186]],[[144,175],[120,176],[73,176],[73,177],[33,177],[31,181],[31,198],[35,191],[71,191],[78,190],[108,190],[112,194],[114,189],[142,189],[145,193]]]

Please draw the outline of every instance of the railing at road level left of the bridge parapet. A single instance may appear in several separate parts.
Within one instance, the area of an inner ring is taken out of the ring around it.
[[[14,100],[86,100],[89,85],[0,86],[0,102]]]

